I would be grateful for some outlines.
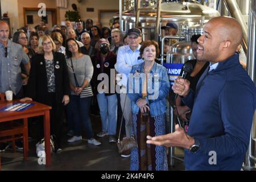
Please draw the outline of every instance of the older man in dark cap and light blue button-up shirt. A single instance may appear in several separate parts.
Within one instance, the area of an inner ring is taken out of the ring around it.
[[[135,64],[140,64],[143,62],[141,56],[139,55],[139,49],[141,48],[141,30],[138,28],[131,28],[127,31],[127,42],[128,46],[122,46],[118,49],[117,63],[115,64],[115,69],[118,73],[121,73],[122,80],[118,85],[122,85],[122,90],[126,90],[127,78],[131,71],[131,67]],[[121,107],[123,111],[123,118],[125,119],[125,130],[126,137],[131,136],[131,100],[127,97],[126,92],[120,93]],[[130,154],[122,154],[122,157],[129,157]]]

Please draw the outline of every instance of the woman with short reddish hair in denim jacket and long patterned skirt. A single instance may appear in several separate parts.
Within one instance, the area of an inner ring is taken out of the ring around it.
[[[131,69],[127,88],[127,96],[132,101],[132,134],[138,143],[138,148],[131,150],[130,169],[168,170],[166,147],[147,145],[146,136],[165,133],[164,113],[170,82],[166,68],[155,63],[159,55],[158,43],[147,40],[140,52],[144,62]]]

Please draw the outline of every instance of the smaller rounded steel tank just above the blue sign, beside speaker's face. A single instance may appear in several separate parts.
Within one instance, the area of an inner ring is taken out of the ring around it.
[[[180,41],[171,46],[171,50],[167,52],[167,63],[185,63],[188,60],[195,59],[191,48],[191,42]]]

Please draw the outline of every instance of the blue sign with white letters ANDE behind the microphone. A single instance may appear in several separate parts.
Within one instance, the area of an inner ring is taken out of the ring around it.
[[[167,74],[172,87],[172,85],[174,85],[174,80],[180,75],[183,64],[164,63],[163,66],[167,69]]]

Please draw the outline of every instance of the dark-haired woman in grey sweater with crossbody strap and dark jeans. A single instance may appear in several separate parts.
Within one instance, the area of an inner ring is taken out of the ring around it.
[[[85,129],[88,143],[100,145],[101,142],[94,139],[92,123],[90,121],[89,110],[93,92],[90,80],[93,76],[93,65],[90,56],[84,55],[80,51],[79,44],[75,39],[67,40],[66,47],[68,76],[70,80],[70,104],[67,113],[68,120],[73,120],[75,124],[75,135],[68,140],[69,143],[82,139],[82,126]]]

